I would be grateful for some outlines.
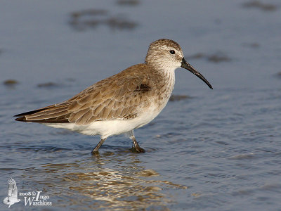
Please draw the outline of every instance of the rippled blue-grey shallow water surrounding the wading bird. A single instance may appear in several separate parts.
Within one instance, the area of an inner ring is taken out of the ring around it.
[[[126,2],[0,3],[1,200],[13,177],[52,203],[19,196],[13,210],[280,210],[280,2]],[[99,137],[13,120],[142,63],[163,37],[214,90],[176,70],[187,97],[135,131],[146,153],[113,136],[91,155]]]

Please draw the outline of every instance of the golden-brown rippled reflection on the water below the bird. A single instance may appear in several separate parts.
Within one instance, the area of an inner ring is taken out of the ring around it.
[[[87,154],[76,160],[70,158],[72,162],[52,162],[28,168],[23,174],[30,182],[28,186],[46,187],[58,207],[169,210],[166,205],[174,200],[162,190],[188,187],[160,179],[156,170],[142,166],[140,155],[120,151],[96,156]]]

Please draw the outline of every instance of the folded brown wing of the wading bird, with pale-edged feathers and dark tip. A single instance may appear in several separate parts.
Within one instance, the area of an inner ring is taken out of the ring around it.
[[[139,72],[141,70],[142,74]],[[16,120],[89,124],[93,121],[136,117],[138,110],[150,103],[147,96],[155,93],[152,90],[156,84],[149,79],[151,74],[145,64],[134,65],[93,84],[63,103],[22,113],[17,115],[20,117]]]

